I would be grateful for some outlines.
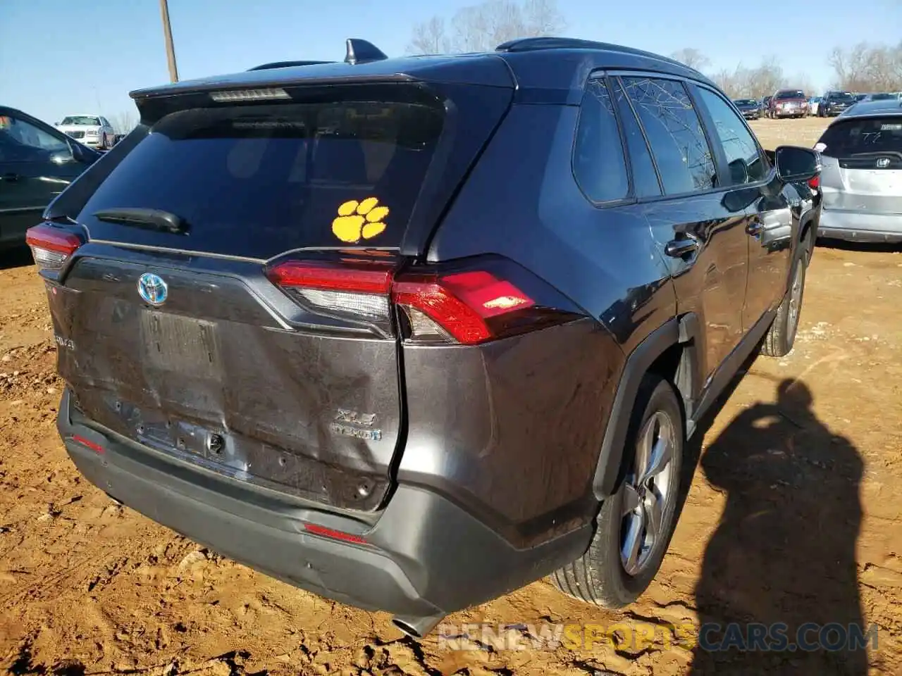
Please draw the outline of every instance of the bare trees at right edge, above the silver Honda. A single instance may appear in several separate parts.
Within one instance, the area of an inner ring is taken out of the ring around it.
[[[896,46],[860,42],[835,48],[829,58],[833,85],[853,92],[902,90],[902,42]]]

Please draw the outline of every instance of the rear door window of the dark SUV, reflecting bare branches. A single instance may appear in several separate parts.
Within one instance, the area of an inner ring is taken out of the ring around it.
[[[686,94],[673,80],[623,78],[668,195],[707,190],[717,185],[711,149],[702,123]]]

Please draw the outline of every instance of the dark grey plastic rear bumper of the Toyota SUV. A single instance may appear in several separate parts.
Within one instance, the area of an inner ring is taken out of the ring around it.
[[[515,549],[447,498],[404,484],[374,524],[326,513],[73,423],[68,391],[58,428],[78,470],[125,505],[273,578],[368,610],[430,617],[471,607],[572,561],[591,538],[586,525]],[[366,544],[310,534],[306,524],[362,534]]]

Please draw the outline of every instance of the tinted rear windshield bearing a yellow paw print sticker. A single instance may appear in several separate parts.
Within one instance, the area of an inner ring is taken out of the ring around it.
[[[442,131],[438,105],[244,105],[156,123],[87,201],[178,215],[193,243],[397,246]],[[230,245],[229,249],[233,247]],[[237,252],[237,251],[235,251]]]

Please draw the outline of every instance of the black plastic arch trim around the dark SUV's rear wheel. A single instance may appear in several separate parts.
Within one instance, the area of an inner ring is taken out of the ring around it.
[[[695,351],[700,338],[699,326],[695,313],[674,317],[649,333],[630,352],[617,385],[598,464],[595,466],[592,484],[595,498],[603,500],[615,492],[621,473],[630,412],[635,404],[640,382],[658,357],[674,345],[683,345],[685,348],[677,367],[675,384],[681,395],[686,420],[692,418],[694,402],[698,400],[702,388],[700,362]]]

